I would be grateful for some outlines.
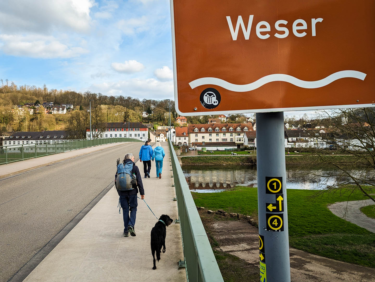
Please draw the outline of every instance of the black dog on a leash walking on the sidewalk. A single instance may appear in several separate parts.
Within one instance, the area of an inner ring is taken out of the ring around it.
[[[155,226],[151,229],[151,252],[152,257],[154,258],[154,267],[152,269],[156,269],[155,251],[157,261],[160,260],[160,251],[162,247],[163,254],[165,253],[166,226],[171,225],[172,222],[173,219],[168,215],[161,215],[159,221],[157,221]]]

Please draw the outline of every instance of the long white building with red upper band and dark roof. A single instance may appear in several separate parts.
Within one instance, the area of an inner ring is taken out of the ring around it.
[[[93,138],[125,137],[142,141],[148,139],[148,127],[140,122],[104,122],[98,127],[92,127]],[[90,128],[86,129],[86,137],[91,138]]]

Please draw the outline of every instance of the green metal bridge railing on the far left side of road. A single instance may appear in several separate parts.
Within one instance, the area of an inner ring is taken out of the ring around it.
[[[142,140],[124,137],[63,140],[37,144],[8,145],[0,149],[0,164],[13,163],[31,158],[43,157],[77,149],[117,142],[143,142]]]

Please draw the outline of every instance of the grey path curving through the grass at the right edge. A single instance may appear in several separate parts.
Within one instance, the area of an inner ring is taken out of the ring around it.
[[[374,204],[372,200],[344,201],[332,204],[328,208],[333,214],[375,233],[375,219],[368,217],[359,210],[361,207],[371,204]]]

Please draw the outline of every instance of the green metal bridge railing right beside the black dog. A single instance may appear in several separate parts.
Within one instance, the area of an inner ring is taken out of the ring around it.
[[[187,281],[223,282],[219,266],[170,140],[168,140],[168,146],[176,190]]]

